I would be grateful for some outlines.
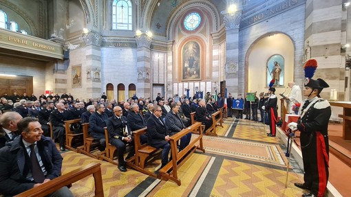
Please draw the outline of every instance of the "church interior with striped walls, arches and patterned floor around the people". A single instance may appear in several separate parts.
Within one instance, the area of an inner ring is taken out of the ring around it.
[[[193,120],[184,128],[184,134],[192,132],[191,147],[170,153],[173,161],[160,172],[160,154],[139,164],[143,145],[126,161],[127,172],[118,170],[117,154],[107,147],[87,148],[89,137],[81,135],[84,141],[67,147],[68,136],[75,139],[68,126],[66,150],[60,152],[62,177],[74,180],[69,181],[74,196],[301,196],[308,192],[294,186],[304,182],[301,143],[297,132],[287,145],[287,125],[297,117],[289,115],[294,112],[286,97],[292,94],[290,82],[304,88],[304,65],[315,59],[313,78],[328,82],[319,95],[332,111],[325,196],[351,196],[350,3],[0,0],[0,96],[10,101],[14,93],[38,98],[69,93],[72,104],[100,104],[104,94],[106,104],[118,105],[134,96],[152,103],[159,94],[185,103],[206,93],[218,103],[218,93],[225,101],[231,94],[234,102],[225,102],[213,116],[212,132],[202,133]],[[275,137],[269,137],[270,127],[257,121],[257,108],[252,121],[240,100],[268,93],[273,80],[278,124]],[[241,106],[235,108],[235,101]],[[176,141],[171,150],[177,150]],[[45,196],[44,190],[22,196]]]

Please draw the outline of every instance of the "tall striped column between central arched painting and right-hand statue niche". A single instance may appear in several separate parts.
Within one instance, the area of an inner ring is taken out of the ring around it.
[[[239,60],[239,27],[242,16],[242,8],[238,8],[235,12],[223,11],[224,25],[226,27],[226,65],[225,79],[226,89],[232,95],[244,93],[244,76],[238,76],[237,62]],[[240,78],[240,80],[239,80]]]

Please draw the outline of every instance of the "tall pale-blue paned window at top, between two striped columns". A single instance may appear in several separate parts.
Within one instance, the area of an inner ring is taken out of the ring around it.
[[[114,0],[112,3],[112,30],[133,30],[131,1]]]

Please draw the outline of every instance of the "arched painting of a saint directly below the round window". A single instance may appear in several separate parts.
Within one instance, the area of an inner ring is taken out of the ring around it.
[[[200,45],[190,41],[182,49],[182,80],[201,80]]]

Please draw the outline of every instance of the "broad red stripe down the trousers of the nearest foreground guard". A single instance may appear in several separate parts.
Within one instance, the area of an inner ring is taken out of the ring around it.
[[[316,132],[317,135],[317,170],[319,177],[318,195],[324,196],[327,187],[327,172],[326,163],[329,163],[329,157],[326,152],[326,143],[321,132]]]

